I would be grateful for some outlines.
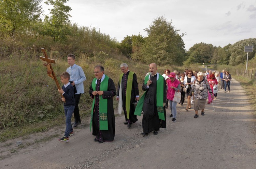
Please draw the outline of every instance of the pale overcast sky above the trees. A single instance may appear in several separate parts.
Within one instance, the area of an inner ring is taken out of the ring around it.
[[[158,16],[186,33],[186,50],[200,42],[224,47],[256,38],[255,0],[69,0],[66,5],[73,23],[100,29],[119,42],[127,35],[147,36],[144,29]]]

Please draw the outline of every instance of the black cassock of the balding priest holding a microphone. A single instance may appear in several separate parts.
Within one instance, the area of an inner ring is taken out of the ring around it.
[[[160,74],[159,74],[160,76]],[[142,90],[146,91],[144,106],[143,106],[143,117],[142,117],[142,128],[144,133],[150,133],[159,128],[166,128],[166,120],[158,118],[157,107],[156,107],[156,86],[157,86],[157,75],[151,77],[152,83],[147,89],[147,84],[142,86]],[[159,79],[160,80],[160,79]],[[163,78],[163,102],[166,102],[166,81]],[[166,110],[163,106],[163,111],[166,119]]]

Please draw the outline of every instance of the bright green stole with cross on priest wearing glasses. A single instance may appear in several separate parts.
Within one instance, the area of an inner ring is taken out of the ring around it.
[[[91,87],[93,88],[94,91],[96,91],[96,80],[97,80],[97,78],[94,78],[93,82],[91,82]],[[108,82],[109,82],[109,77],[105,75],[105,78],[100,82],[100,91],[108,90]],[[100,95],[100,100],[99,100],[100,130],[109,130],[109,128],[108,128],[108,99],[103,99],[102,96],[103,95]],[[94,106],[95,106],[95,97],[93,99],[93,106],[91,107],[90,131],[91,131],[91,125],[93,123]]]

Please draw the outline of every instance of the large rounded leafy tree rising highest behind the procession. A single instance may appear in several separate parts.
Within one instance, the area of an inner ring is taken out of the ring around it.
[[[178,34],[179,30],[172,26],[172,22],[161,16],[144,31],[148,36],[144,38],[136,59],[145,63],[182,64],[182,58],[185,58],[184,34]]]

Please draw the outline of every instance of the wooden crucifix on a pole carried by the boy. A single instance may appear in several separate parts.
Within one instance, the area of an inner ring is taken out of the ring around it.
[[[55,60],[48,58],[48,55],[47,55],[47,53],[45,52],[45,49],[44,49],[44,48],[42,48],[41,51],[43,52],[44,57],[40,56],[40,59],[47,62],[47,63],[44,63],[44,64],[43,64],[44,66],[47,67],[47,75],[48,75],[49,77],[51,77],[51,78],[55,81],[55,83],[56,83],[56,85],[57,85],[57,88],[60,89],[59,82],[58,82],[58,80],[57,80],[57,77],[56,77],[56,75],[55,75],[55,73],[54,73],[54,71],[53,71],[52,65],[51,65],[51,63],[55,63]],[[60,95],[61,95],[61,97],[65,98],[62,94],[60,94]],[[64,102],[65,102],[65,101],[64,101]]]

